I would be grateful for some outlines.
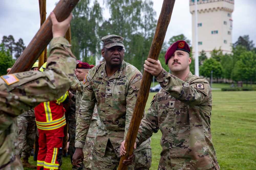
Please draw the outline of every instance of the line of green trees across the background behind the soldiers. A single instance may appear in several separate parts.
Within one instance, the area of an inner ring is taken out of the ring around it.
[[[103,9],[109,11],[110,18],[104,19]],[[156,29],[156,12],[151,0],[104,0],[103,6],[98,1],[80,0],[72,11],[71,51],[81,61],[95,64],[95,58],[102,59],[101,37],[109,34],[124,37],[124,60],[143,72]],[[165,70],[164,55],[168,47],[178,41],[191,43],[183,34],[173,36],[164,42],[159,60]],[[11,67],[13,58],[18,58],[25,49],[23,40],[14,41],[12,35],[4,36],[0,46],[0,74],[6,74],[6,67]],[[211,70],[216,79],[225,78],[233,81],[255,81],[255,47],[249,36],[241,36],[232,45],[232,54],[223,54],[220,49],[214,49],[208,59],[204,51],[199,54],[199,74],[210,77]],[[5,59],[3,54],[5,54]],[[193,54],[190,53],[193,58]],[[4,63],[3,63],[4,62]],[[7,64],[8,63],[8,64]],[[192,59],[190,71],[195,72],[195,60]]]

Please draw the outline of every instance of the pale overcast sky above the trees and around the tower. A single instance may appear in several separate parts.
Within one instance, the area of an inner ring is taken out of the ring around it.
[[[98,0],[102,5],[103,0]],[[158,19],[163,0],[152,0]],[[47,0],[46,10],[49,16],[55,8],[58,0]],[[249,35],[250,40],[256,44],[256,1],[234,0],[232,13],[233,30],[232,42],[236,42],[239,36]],[[107,11],[107,9],[105,9]],[[108,19],[109,15],[104,15]],[[192,41],[192,15],[189,11],[189,0],[176,0],[171,21],[166,32],[165,41],[172,36],[184,34]],[[0,42],[4,35],[13,35],[15,42],[22,38],[25,45],[37,33],[40,28],[39,5],[36,0],[0,0]],[[71,35],[72,36],[72,35]],[[121,35],[122,36],[122,35]],[[125,37],[124,37],[125,38]]]

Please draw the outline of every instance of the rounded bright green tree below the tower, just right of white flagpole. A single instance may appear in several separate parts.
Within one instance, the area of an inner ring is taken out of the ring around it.
[[[217,82],[218,82],[218,79],[221,78],[223,69],[220,62],[218,62],[216,59],[213,59],[213,58],[206,59],[203,62],[202,66],[199,67],[199,74],[201,76],[210,78],[211,71],[212,71],[212,77],[214,79],[217,79]]]

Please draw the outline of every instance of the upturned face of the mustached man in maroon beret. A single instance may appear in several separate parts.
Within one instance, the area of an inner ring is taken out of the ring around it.
[[[189,54],[182,50],[176,50],[168,60],[168,67],[172,74],[181,73],[189,69],[191,58]]]

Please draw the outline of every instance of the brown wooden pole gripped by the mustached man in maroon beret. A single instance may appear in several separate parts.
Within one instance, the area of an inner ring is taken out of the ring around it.
[[[167,28],[171,19],[174,2],[175,0],[164,0],[163,2],[162,10],[156,26],[155,35],[150,47],[150,51],[148,53],[148,58],[158,60],[159,54],[163,46],[165,33],[167,31]],[[123,161],[127,160],[128,157],[133,153],[133,146],[136,140],[142,115],[146,106],[152,78],[153,78],[153,75],[144,71],[140,90],[135,103],[135,108],[133,111],[131,123],[129,126],[129,130],[127,132],[127,136],[124,144],[126,149],[126,154],[121,157],[118,170],[126,170],[128,168],[127,165],[123,164]]]

